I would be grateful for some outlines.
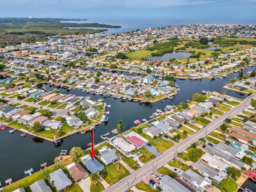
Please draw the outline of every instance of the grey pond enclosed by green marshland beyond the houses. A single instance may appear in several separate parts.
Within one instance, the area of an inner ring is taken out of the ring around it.
[[[160,61],[160,60],[163,60],[163,61],[169,61],[170,58],[175,58],[175,59],[187,59],[189,58],[191,55],[191,53],[188,53],[188,52],[172,52],[172,53],[165,53],[163,54],[162,56],[152,56],[152,57],[149,57],[147,59],[150,59],[152,61]]]

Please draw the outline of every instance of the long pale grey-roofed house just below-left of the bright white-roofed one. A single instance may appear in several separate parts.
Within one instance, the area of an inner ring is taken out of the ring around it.
[[[207,164],[203,163],[201,160],[194,162],[192,164],[192,168],[194,168],[194,170],[198,171],[202,176],[211,178],[212,180],[214,180],[217,183],[220,183],[227,176],[226,173],[224,173],[222,171],[217,171],[216,169],[212,168],[211,166],[208,166]]]

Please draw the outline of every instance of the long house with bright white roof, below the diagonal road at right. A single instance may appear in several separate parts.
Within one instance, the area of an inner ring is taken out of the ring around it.
[[[200,158],[200,160],[202,162],[204,162],[205,164],[207,164],[208,166],[210,166],[214,169],[220,170],[224,173],[226,173],[226,168],[230,167],[227,163],[212,156],[209,153],[203,154],[202,157]]]

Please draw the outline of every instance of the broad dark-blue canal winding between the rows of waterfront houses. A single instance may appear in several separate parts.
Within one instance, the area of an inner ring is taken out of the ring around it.
[[[244,70],[244,74],[249,70],[254,70],[256,66],[249,67]],[[134,126],[133,121],[143,118],[149,119],[149,116],[156,111],[157,108],[164,109],[166,105],[177,105],[180,102],[185,102],[187,99],[192,99],[192,95],[202,90],[210,90],[220,92],[224,90],[222,86],[228,83],[230,78],[237,77],[238,73],[233,73],[226,78],[216,80],[176,80],[176,84],[180,85],[178,95],[174,96],[173,100],[166,99],[165,102],[156,102],[154,104],[140,104],[136,102],[121,102],[114,100],[114,98],[104,98],[106,104],[111,105],[106,108],[110,114],[108,122],[96,126],[94,142],[98,144],[103,140],[100,138],[101,134],[110,132],[116,128],[117,121],[122,119],[125,130]],[[49,90],[53,87],[46,86]],[[246,98],[246,95],[238,94],[236,92],[227,91],[227,94],[236,98]],[[71,89],[69,92],[66,89],[60,89],[60,93],[76,94],[77,96],[86,96],[86,92],[81,90]],[[92,96],[97,100],[99,95]],[[0,182],[12,178],[17,181],[25,177],[24,170],[33,168],[35,171],[40,170],[40,164],[47,162],[48,165],[53,164],[55,157],[59,156],[61,150],[70,150],[73,146],[80,146],[83,149],[88,148],[87,143],[91,142],[91,134],[80,133],[74,134],[62,140],[62,143],[55,146],[54,143],[45,140],[34,138],[30,135],[21,137],[20,132],[16,130],[13,134],[8,132],[9,128],[0,131]],[[110,135],[112,136],[112,135]]]

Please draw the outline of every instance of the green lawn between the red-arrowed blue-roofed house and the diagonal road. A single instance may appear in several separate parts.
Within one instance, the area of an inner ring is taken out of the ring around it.
[[[112,163],[105,167],[107,171],[106,175],[100,174],[102,178],[110,185],[118,182],[120,179],[124,178],[126,175],[129,174],[129,171],[119,163],[119,170],[118,170],[118,163]]]

